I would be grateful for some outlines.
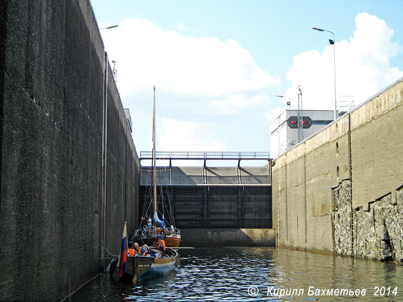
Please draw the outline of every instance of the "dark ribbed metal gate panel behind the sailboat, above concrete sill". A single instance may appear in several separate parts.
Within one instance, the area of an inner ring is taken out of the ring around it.
[[[267,185],[167,186],[158,188],[158,204],[170,197],[177,228],[271,229],[272,187]],[[147,186],[140,203],[149,203]],[[143,204],[142,204],[143,203]],[[159,206],[161,211],[161,206]],[[151,212],[151,210],[150,210]],[[149,213],[150,214],[150,213]]]

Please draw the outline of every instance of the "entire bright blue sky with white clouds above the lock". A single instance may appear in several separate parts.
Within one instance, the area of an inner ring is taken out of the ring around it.
[[[403,77],[403,1],[91,1],[138,153],[270,151],[270,123],[297,106],[365,101]],[[182,164],[182,163],[181,163]],[[192,163],[193,164],[193,163]]]

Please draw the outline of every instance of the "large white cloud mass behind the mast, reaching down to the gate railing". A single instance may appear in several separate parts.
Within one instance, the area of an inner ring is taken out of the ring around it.
[[[178,24],[177,29],[186,26]],[[245,110],[252,114],[266,107],[267,90],[280,83],[231,39],[184,36],[132,18],[101,33],[109,60],[116,61],[117,86],[131,113],[138,151],[150,149],[146,116],[151,114],[154,84],[164,127],[159,150],[222,151],[228,148],[228,137],[219,139],[226,135],[219,128],[231,127],[223,119],[237,121]]]

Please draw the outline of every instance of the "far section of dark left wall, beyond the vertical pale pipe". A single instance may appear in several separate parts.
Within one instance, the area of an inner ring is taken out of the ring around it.
[[[127,234],[132,234],[138,225],[140,160],[137,157],[109,63],[107,77],[104,242],[106,249],[116,255],[120,251],[123,221],[127,221]],[[104,256],[111,255],[105,251]]]

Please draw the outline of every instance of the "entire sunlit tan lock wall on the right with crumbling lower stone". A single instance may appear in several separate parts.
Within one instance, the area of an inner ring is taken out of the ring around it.
[[[276,160],[279,247],[403,262],[402,81]]]

